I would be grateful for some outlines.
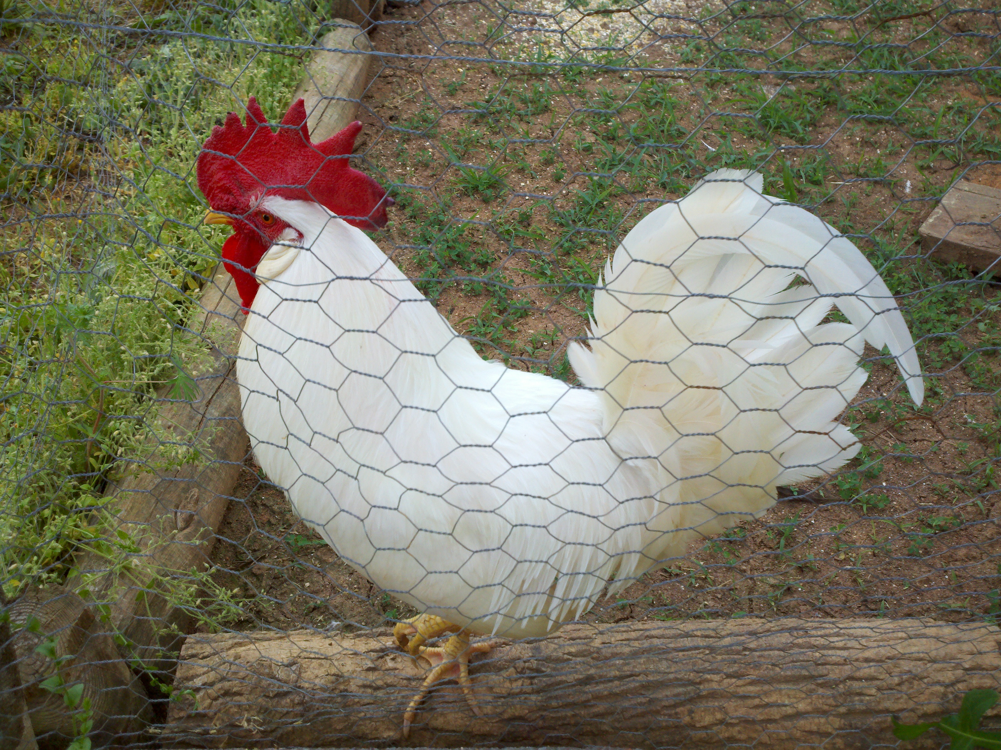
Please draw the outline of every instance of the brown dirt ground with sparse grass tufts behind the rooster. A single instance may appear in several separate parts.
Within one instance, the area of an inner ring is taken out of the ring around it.
[[[746,59],[723,65],[719,52],[738,47],[725,41],[738,22],[800,69],[838,54],[848,68],[875,65],[844,47],[800,44],[780,20],[751,11],[728,18],[679,21],[672,39],[618,67],[739,68]],[[976,14],[938,19],[934,44],[924,16],[877,21],[867,21],[869,33],[905,40],[915,55],[988,54],[967,34],[982,21]],[[830,21],[824,38],[847,38],[859,23]],[[903,75],[569,76],[435,59],[527,54],[537,49],[525,41],[533,29],[552,26],[482,3],[425,0],[388,8],[373,35],[388,54],[373,65],[359,151],[399,200],[375,239],[456,330],[512,366],[573,380],[566,343],[585,333],[587,285],[617,239],[706,171],[755,167],[769,192],[811,206],[870,253],[922,339],[929,373],[929,398],[916,409],[896,368],[870,351],[871,378],[844,417],[863,443],[858,459],[835,477],[788,488],[760,521],[692,545],[588,619],[992,618],[1001,586],[998,288],[923,257],[917,229],[958,177],[1001,187],[1001,166],[985,163],[1001,153],[997,83],[915,78],[911,119],[899,109],[881,119],[865,112],[887,106],[881,96],[899,98],[882,90]],[[695,50],[692,29],[710,27],[716,46]],[[447,43],[456,39],[464,46]],[[654,120],[657,132],[645,130]],[[955,143],[922,145],[933,140],[932,121],[937,139]],[[670,148],[642,147],[652,142]],[[217,582],[246,599],[233,627],[372,627],[414,614],[340,562],[250,462],[235,496],[213,553]]]

